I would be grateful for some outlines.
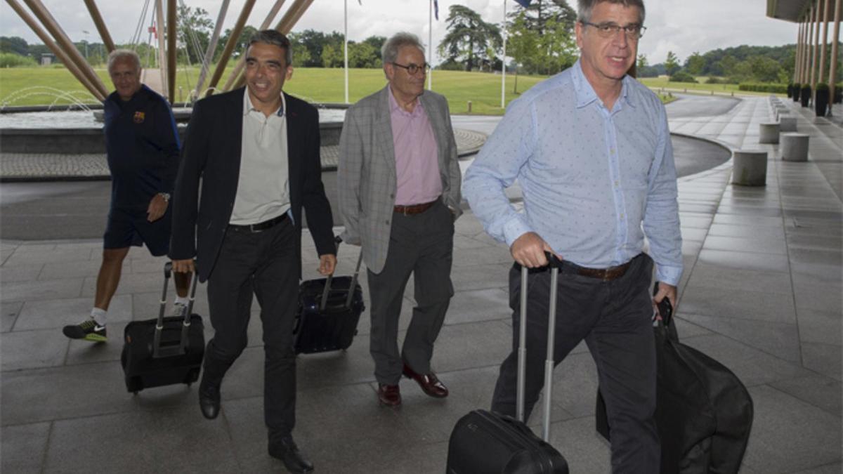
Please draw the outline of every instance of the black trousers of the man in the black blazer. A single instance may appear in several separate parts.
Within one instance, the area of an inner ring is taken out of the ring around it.
[[[254,294],[263,323],[264,419],[270,442],[291,434],[295,425],[293,322],[298,304],[295,233],[289,218],[258,233],[229,227],[208,278],[208,307],[214,336],[207,344],[202,382],[222,383],[223,375],[246,347]]]

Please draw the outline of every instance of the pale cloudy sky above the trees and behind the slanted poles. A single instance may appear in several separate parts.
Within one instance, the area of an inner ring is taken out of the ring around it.
[[[190,7],[204,8],[213,20],[217,19],[223,3],[223,0],[182,1]],[[507,12],[521,8],[514,0],[439,0],[439,20],[433,20],[431,29],[428,22],[431,0],[359,1],[314,0],[293,31],[313,29],[326,33],[333,30],[342,32],[343,5],[347,2],[349,40],[363,40],[371,35],[389,36],[404,30],[419,35],[422,42],[427,44],[432,30],[435,51],[447,32],[445,19],[450,5],[465,5],[480,13],[486,22],[498,24],[503,19],[504,4]],[[42,2],[72,40],[100,42],[94,22],[82,2]],[[258,0],[247,24],[255,27],[260,25],[273,3],[274,0]],[[293,0],[287,0],[273,25],[292,3]],[[684,62],[695,51],[705,53],[729,46],[781,46],[795,43],[797,24],[767,18],[766,3],[766,0],[645,0],[647,33],[640,41],[638,52],[647,55],[650,64],[657,64],[664,62],[668,51],[673,51]],[[223,28],[234,26],[243,4],[244,0],[230,0]],[[575,0],[568,0],[568,4],[576,8]],[[142,0],[97,2],[105,24],[117,43],[131,40],[142,5]],[[144,24],[148,25],[148,22],[149,17]],[[41,42],[6,2],[0,3],[0,35],[20,36],[32,44]],[[147,39],[147,35],[142,37],[143,40]],[[439,58],[434,56],[433,63],[438,62]]]

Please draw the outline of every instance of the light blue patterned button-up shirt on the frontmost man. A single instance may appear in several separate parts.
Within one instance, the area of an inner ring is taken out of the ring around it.
[[[503,191],[516,179],[523,213]],[[658,280],[679,283],[682,238],[667,115],[656,94],[630,76],[612,110],[578,61],[536,84],[509,105],[466,171],[463,193],[495,239],[512,245],[532,231],[583,267],[630,261],[646,234]]]

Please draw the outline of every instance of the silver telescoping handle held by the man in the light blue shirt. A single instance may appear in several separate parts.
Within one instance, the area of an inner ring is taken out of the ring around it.
[[[542,436],[545,442],[550,440],[550,403],[553,397],[553,348],[556,345],[556,285],[559,282],[559,267],[561,261],[550,252],[545,252],[550,267],[550,308],[547,321],[547,356],[545,357],[545,401],[542,423]],[[518,386],[516,389],[516,417],[518,421],[527,423],[524,419],[524,391],[525,374],[527,372],[527,276],[528,268],[521,267],[521,317],[518,320]]]

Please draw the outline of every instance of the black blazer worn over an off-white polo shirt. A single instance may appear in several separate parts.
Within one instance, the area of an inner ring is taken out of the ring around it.
[[[236,89],[196,102],[185,133],[173,195],[169,257],[196,257],[200,281],[213,271],[234,209],[243,135],[243,94]],[[319,161],[319,113],[284,94],[287,101],[287,158],[290,204],[298,229],[296,261],[301,274],[302,207],[319,255],[336,254],[330,203]],[[201,179],[201,199],[199,186]]]

